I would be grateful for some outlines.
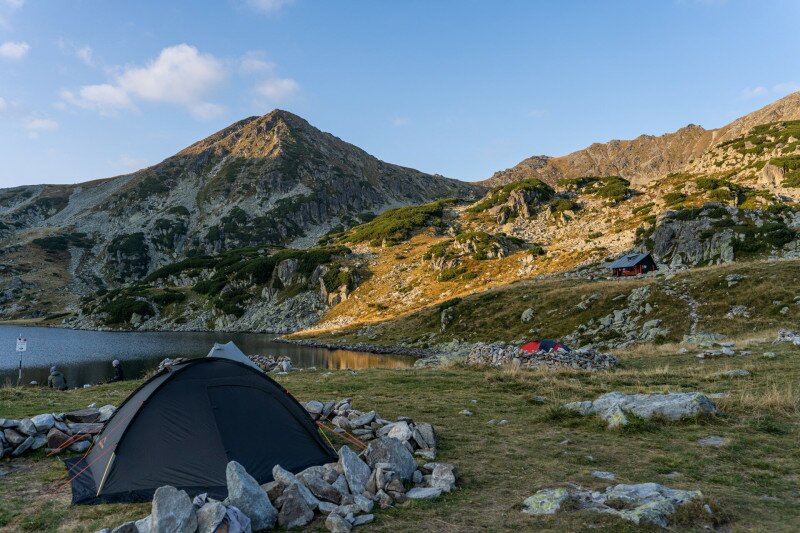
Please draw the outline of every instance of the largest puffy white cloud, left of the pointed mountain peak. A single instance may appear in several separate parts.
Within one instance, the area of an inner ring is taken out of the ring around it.
[[[209,118],[223,111],[206,98],[224,79],[225,69],[214,56],[179,44],[164,48],[144,67],[125,67],[113,84],[84,85],[77,93],[63,91],[61,96],[72,105],[104,114],[131,108],[138,99],[177,104]]]

